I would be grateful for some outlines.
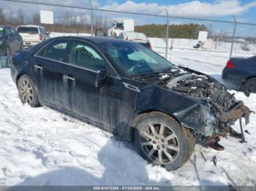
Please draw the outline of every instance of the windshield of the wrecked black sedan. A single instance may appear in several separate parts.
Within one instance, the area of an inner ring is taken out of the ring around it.
[[[173,67],[165,58],[140,44],[113,42],[100,45],[129,76],[167,71]]]

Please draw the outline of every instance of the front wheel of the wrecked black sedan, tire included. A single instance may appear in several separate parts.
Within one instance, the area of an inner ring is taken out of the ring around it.
[[[189,129],[182,128],[173,117],[162,112],[150,112],[138,118],[134,144],[144,159],[167,171],[174,171],[189,160],[196,141]]]

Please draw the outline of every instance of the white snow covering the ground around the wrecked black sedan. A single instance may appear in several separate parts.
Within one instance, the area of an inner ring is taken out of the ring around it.
[[[161,47],[154,50],[164,54]],[[177,48],[168,59],[222,82],[228,55]],[[196,145],[183,167],[168,172],[110,133],[45,106],[22,105],[10,69],[0,69],[0,87],[0,185],[256,185],[255,114],[245,128],[246,143],[222,138],[222,152]],[[231,92],[256,111],[256,94]],[[239,130],[238,122],[233,128]]]

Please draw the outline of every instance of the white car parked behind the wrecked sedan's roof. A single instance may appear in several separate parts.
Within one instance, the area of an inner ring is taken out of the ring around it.
[[[118,39],[129,40],[133,42],[138,42],[149,49],[152,49],[151,43],[148,40],[146,34],[136,33],[136,32],[121,32],[119,34]]]

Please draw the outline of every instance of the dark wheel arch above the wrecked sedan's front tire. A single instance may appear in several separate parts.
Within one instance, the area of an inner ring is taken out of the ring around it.
[[[135,115],[135,117],[133,118],[132,120],[132,123],[131,123],[131,128],[130,128],[130,136],[131,136],[131,140],[132,142],[134,141],[134,136],[135,136],[135,128],[137,126],[137,122],[144,116],[146,116],[146,114],[149,114],[151,112],[161,112],[163,114],[167,114],[169,115],[170,117],[173,117],[174,120],[176,120],[176,122],[178,122],[179,125],[181,125],[181,122],[179,122],[177,120],[177,118],[173,115],[173,114],[168,114],[167,112],[163,112],[161,110],[158,110],[158,109],[148,109],[148,110],[145,110],[143,112],[139,112],[137,115]]]

